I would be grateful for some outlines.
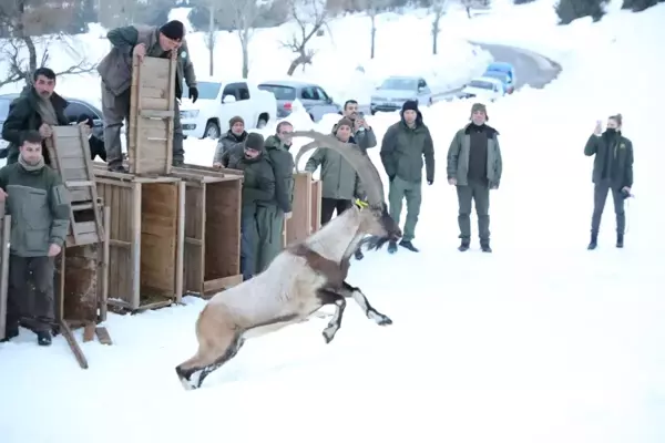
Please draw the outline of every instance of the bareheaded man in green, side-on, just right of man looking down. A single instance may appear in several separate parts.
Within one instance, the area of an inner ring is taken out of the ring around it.
[[[272,202],[259,202],[257,217],[262,223],[269,224],[269,237],[260,238],[258,245],[257,271],[263,271],[282,250],[282,233],[284,223],[291,216],[294,199],[294,157],[288,151],[291,145],[288,134],[294,132],[294,126],[287,122],[279,122],[276,134],[266,140],[266,153],[273,173],[275,174],[275,198]]]

